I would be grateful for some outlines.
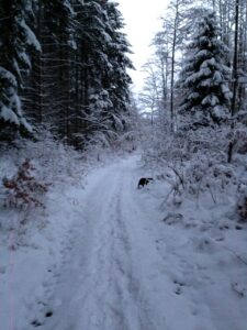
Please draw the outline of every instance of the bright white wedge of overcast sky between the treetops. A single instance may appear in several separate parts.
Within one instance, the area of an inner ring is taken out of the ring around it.
[[[132,44],[131,55],[136,72],[132,72],[131,76],[136,85],[135,90],[142,88],[144,75],[141,67],[150,56],[148,45],[153,36],[160,30],[161,22],[159,18],[164,14],[169,0],[116,0],[120,3],[120,11],[124,16],[126,24],[125,33],[127,40]]]

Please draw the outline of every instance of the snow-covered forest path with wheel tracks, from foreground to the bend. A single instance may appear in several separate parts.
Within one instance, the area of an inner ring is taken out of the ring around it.
[[[130,158],[89,184],[46,330],[166,329],[161,260],[136,199],[135,167]]]

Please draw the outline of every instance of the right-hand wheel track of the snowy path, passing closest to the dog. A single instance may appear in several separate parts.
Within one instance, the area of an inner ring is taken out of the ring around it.
[[[130,245],[133,248],[130,253],[132,263],[130,292],[137,305],[138,329],[167,330],[166,311],[160,308],[160,302],[164,304],[167,297],[159,268],[157,268],[157,265],[161,264],[161,258],[146,231],[153,215],[148,213],[143,204],[139,205],[139,190],[136,190],[136,183],[133,180],[136,164],[131,163],[125,170],[126,179],[122,191],[126,194],[122,196],[122,223],[124,223]],[[134,327],[130,327],[131,329]]]

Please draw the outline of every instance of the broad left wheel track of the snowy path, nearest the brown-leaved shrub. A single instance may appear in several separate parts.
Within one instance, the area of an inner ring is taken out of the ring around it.
[[[117,172],[111,174],[108,189],[104,189],[105,177],[102,176],[88,194],[81,228],[78,227],[74,249],[69,253],[70,260],[67,257],[67,264],[60,270],[61,279],[55,289],[52,301],[54,317],[47,321],[45,330],[100,328],[104,315],[99,301],[103,295],[102,287],[108,283],[105,215],[108,208],[111,208],[116,176]],[[58,307],[54,306],[56,301]]]

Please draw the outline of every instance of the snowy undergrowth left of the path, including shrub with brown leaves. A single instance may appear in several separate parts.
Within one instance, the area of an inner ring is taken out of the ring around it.
[[[81,189],[88,165],[83,155],[57,142],[47,131],[31,141],[0,144],[0,235],[13,231],[24,242],[46,227],[50,209],[68,187]]]

